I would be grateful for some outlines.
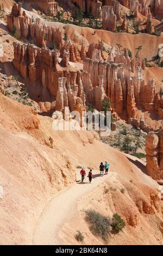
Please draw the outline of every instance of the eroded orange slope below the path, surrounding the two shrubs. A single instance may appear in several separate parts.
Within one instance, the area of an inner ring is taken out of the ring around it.
[[[82,231],[84,244],[104,244],[100,237],[92,235],[85,221],[85,210],[93,209],[109,218],[117,212],[126,222],[122,232],[109,235],[109,245],[162,245],[161,209],[156,202],[153,204],[153,193],[153,188],[114,173],[110,179],[80,197],[73,216],[67,216],[59,227],[60,244],[79,245],[74,239],[77,230]]]

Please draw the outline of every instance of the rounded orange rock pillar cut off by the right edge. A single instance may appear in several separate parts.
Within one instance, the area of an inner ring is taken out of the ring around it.
[[[149,132],[146,138],[146,169],[153,179],[163,179],[163,130]]]

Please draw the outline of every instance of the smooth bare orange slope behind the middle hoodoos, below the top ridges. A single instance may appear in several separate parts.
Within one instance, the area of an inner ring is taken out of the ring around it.
[[[58,22],[46,22],[47,25],[53,27],[63,28],[65,24]],[[121,44],[122,48],[128,48],[133,53],[136,53],[135,48],[142,46],[142,51],[140,56],[142,58],[151,59],[159,50],[159,44],[162,44],[162,36],[155,36],[149,34],[127,34],[127,33],[112,33],[110,31],[104,31],[102,29],[92,29],[78,27],[75,25],[67,25],[67,33],[71,40],[81,44],[82,40],[86,45],[91,42],[98,42],[98,40],[103,40],[105,46],[116,46],[116,44]],[[94,32],[96,31],[96,34]]]

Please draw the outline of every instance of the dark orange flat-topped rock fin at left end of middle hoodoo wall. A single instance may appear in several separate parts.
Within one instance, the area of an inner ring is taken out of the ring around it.
[[[13,64],[24,78],[39,81],[52,95],[58,90],[58,51],[39,48],[34,45],[20,45],[14,42]]]

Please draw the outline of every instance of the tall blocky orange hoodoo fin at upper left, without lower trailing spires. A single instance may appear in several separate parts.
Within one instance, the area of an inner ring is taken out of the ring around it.
[[[18,39],[28,38],[39,47],[55,45],[56,48],[60,48],[62,41],[60,28],[43,25],[39,18],[31,19],[22,11],[21,3],[14,3],[11,14],[7,15],[7,24]]]

